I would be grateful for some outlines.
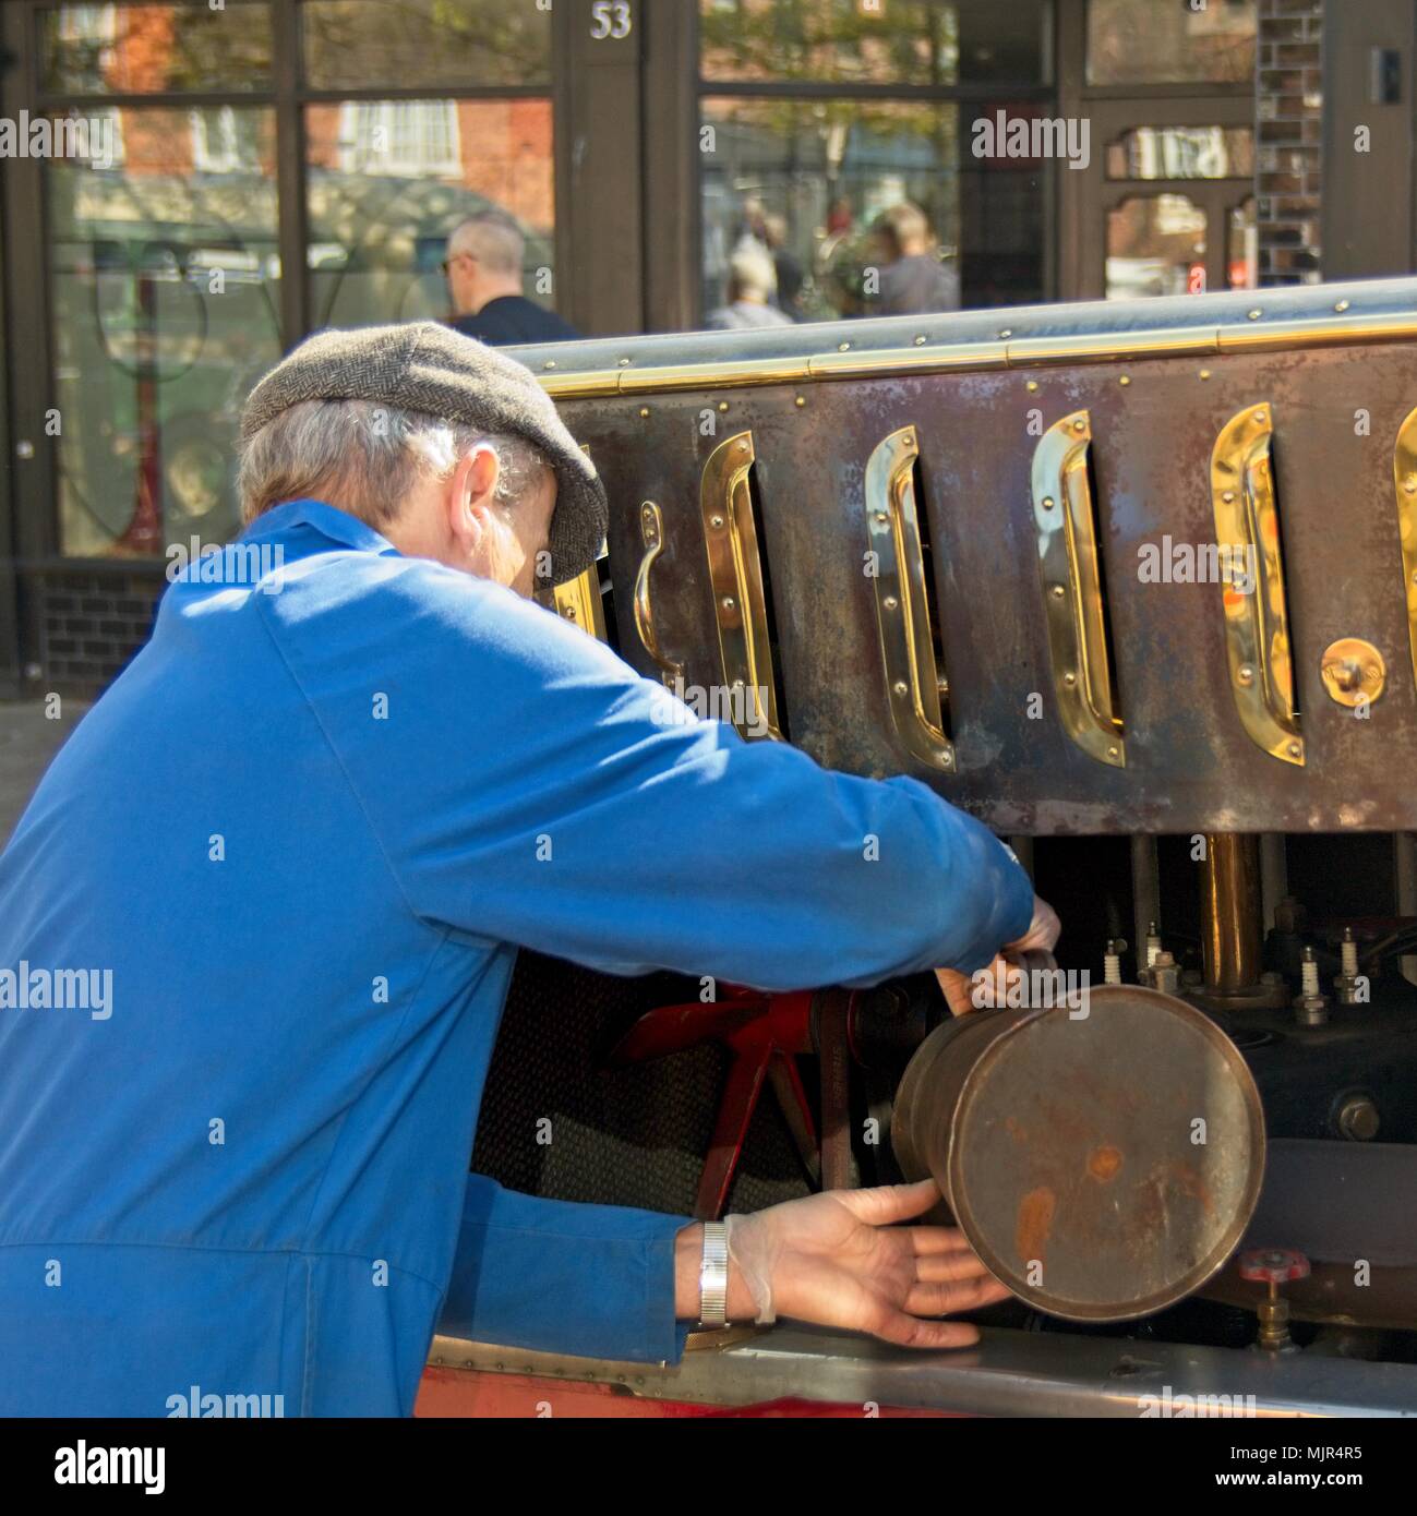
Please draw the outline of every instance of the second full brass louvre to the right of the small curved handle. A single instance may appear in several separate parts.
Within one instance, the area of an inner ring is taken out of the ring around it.
[[[906,750],[932,769],[953,770],[944,735],[943,684],[935,669],[931,608],[915,508],[914,426],[891,432],[865,465],[865,532],[876,579],[876,622],[891,720]]]

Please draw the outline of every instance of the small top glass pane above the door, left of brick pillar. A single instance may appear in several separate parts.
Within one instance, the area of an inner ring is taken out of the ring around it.
[[[1255,0],[1088,0],[1087,82],[1250,83]]]

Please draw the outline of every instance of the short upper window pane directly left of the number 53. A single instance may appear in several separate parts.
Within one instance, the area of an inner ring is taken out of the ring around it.
[[[535,0],[305,0],[305,80],[314,89],[544,85],[552,8]]]

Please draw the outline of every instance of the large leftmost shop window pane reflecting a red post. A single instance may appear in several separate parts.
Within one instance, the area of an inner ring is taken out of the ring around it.
[[[68,555],[236,531],[236,424],[280,358],[280,268],[274,112],[223,111],[124,106],[121,168],[45,167]]]

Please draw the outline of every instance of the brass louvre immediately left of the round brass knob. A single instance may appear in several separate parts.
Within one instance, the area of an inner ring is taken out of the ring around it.
[[[1253,567],[1249,594],[1234,582],[1221,585],[1225,646],[1244,729],[1270,756],[1303,767],[1272,437],[1273,406],[1250,405],[1226,421],[1211,453],[1215,543],[1232,565],[1234,555],[1243,555],[1246,576]]]

